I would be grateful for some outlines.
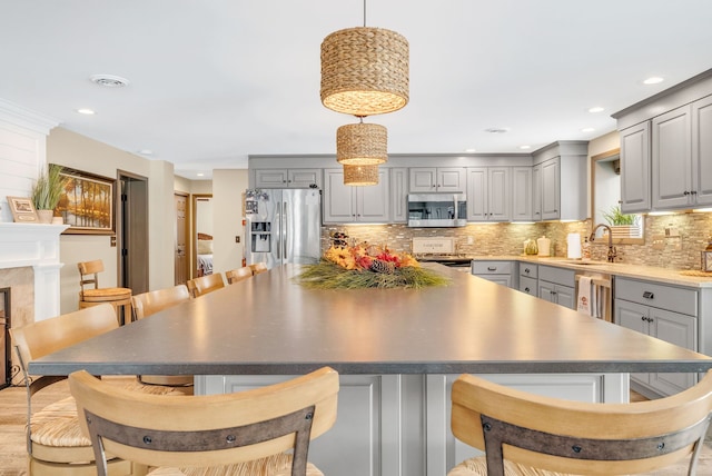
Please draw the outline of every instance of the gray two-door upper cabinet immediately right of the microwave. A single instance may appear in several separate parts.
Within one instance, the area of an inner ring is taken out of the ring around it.
[[[510,221],[511,167],[467,168],[467,220]]]

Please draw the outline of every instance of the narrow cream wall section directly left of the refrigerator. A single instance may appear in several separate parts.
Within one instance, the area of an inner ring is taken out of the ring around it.
[[[225,272],[243,266],[245,226],[243,194],[247,189],[247,169],[212,170],[212,269]],[[235,242],[239,237],[240,242]]]

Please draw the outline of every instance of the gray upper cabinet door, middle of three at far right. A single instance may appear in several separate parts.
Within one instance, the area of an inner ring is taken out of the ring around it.
[[[692,185],[690,106],[653,118],[653,209],[684,208]]]

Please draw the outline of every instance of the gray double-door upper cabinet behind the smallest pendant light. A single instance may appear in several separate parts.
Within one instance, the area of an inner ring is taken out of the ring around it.
[[[324,170],[324,222],[382,224],[390,220],[388,169],[378,170],[378,185],[344,185],[343,169]]]

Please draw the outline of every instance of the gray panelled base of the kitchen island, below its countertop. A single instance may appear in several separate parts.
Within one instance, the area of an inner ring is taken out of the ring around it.
[[[446,476],[475,449],[451,430],[451,390],[459,375],[340,375],[335,425],[309,444],[325,475]],[[259,388],[294,376],[196,377],[196,395]],[[623,403],[627,374],[483,375],[500,385],[550,397]]]

